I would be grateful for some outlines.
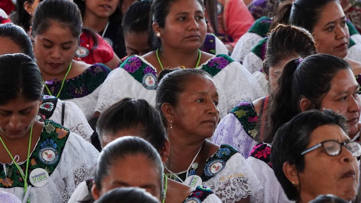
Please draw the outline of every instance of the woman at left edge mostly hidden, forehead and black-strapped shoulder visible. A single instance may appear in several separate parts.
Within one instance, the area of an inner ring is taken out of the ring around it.
[[[34,60],[30,37],[21,27],[12,23],[0,25],[0,41],[3,43],[3,46],[0,47],[0,55],[24,53]],[[63,125],[87,141],[90,141],[93,134],[83,112],[73,102],[63,102],[52,96],[44,96],[36,120],[42,122],[45,119]]]

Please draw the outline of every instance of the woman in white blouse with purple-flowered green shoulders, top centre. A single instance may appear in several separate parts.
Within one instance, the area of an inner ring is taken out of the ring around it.
[[[142,98],[154,105],[157,73],[177,66],[203,69],[212,75],[222,99],[221,117],[241,100],[264,96],[252,75],[229,56],[214,56],[199,50],[206,34],[203,10],[203,0],[153,1],[152,32],[157,34],[150,34],[149,38],[155,39],[151,40],[155,51],[142,57],[129,57],[110,74],[96,111],[101,112],[124,97]],[[179,17],[177,13],[186,14]]]

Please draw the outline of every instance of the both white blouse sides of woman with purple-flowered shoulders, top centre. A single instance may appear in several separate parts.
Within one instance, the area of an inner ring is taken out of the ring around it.
[[[143,62],[153,67],[143,57],[138,56]],[[207,64],[211,59],[206,61]],[[154,67],[153,67],[154,68]],[[201,69],[199,66],[197,69]],[[154,68],[155,69],[155,68]],[[213,77],[218,88],[221,118],[226,116],[238,103],[253,101],[265,96],[265,92],[251,73],[238,62],[231,62]],[[105,79],[95,111],[102,112],[111,104],[126,97],[145,99],[155,106],[156,90],[148,90],[136,81],[126,70],[117,68]]]

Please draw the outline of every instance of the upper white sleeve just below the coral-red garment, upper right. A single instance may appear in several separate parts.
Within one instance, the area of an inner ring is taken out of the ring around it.
[[[258,42],[260,42],[261,39],[262,37],[260,35],[257,35],[256,33],[245,33],[244,35],[242,35],[233,49],[231,55],[232,59],[243,63],[246,55],[251,51],[254,46],[257,45]]]

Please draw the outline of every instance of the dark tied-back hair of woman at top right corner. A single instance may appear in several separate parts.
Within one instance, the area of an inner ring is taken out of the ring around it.
[[[321,10],[332,1],[339,3],[338,0],[295,0],[293,3],[292,1],[280,3],[271,27],[277,23],[289,23],[313,33]]]

